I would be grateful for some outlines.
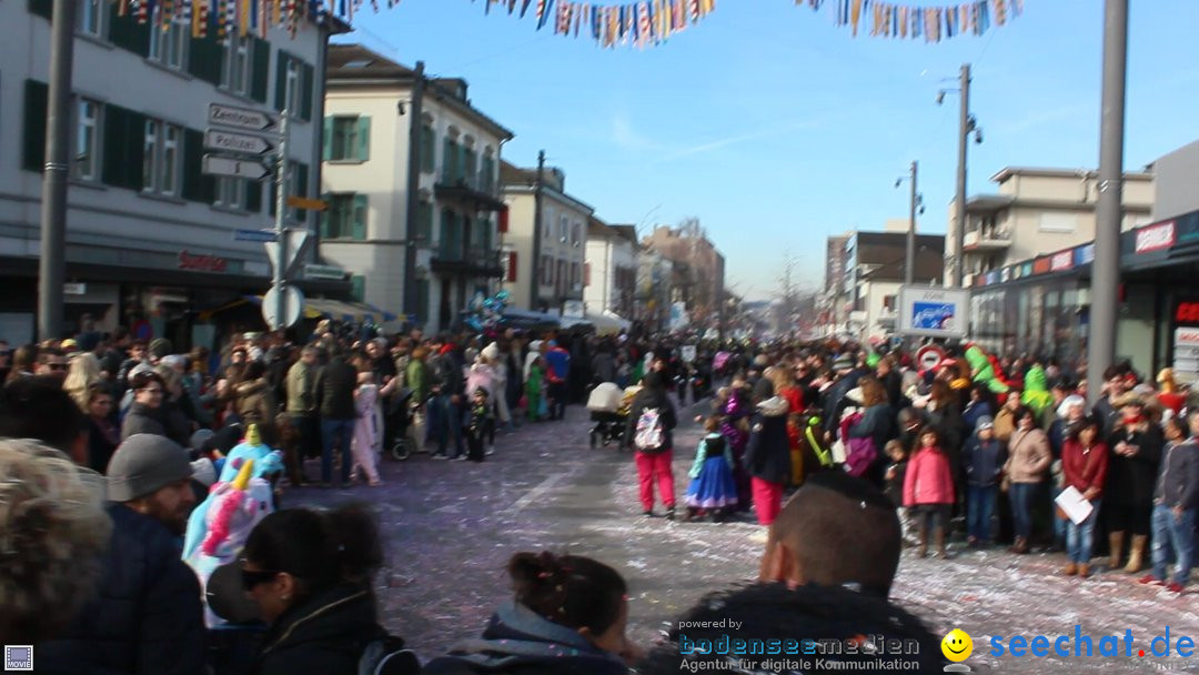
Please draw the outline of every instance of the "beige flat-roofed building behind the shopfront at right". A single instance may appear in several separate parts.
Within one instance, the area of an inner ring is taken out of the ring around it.
[[[975,275],[1095,239],[1096,171],[1008,167],[990,180],[998,193],[966,200],[965,285]],[[1125,174],[1121,231],[1149,223],[1152,207],[1153,174]],[[951,203],[950,233],[956,221]]]

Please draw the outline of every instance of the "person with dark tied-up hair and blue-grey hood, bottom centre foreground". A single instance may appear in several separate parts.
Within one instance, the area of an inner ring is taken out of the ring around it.
[[[481,639],[434,658],[424,675],[623,675],[638,656],[628,638],[628,586],[619,572],[579,555],[518,553],[508,561],[516,597]]]

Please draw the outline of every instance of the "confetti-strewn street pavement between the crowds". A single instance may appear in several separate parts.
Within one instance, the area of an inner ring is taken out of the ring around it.
[[[680,499],[700,438],[689,418],[706,408],[689,410],[680,415],[687,422],[675,434]],[[384,487],[293,489],[284,502],[360,500],[376,508],[387,550],[378,579],[382,622],[422,659],[478,635],[493,609],[511,597],[505,566],[523,550],[588,555],[615,567],[629,586],[628,634],[649,646],[704,593],[755,577],[763,528],[748,519],[645,518],[632,454],[615,446],[590,448],[590,427],[586,410],[572,406],[564,421],[500,434],[495,454],[481,464],[414,454],[406,462],[382,462]],[[315,476],[315,466],[308,471]],[[661,505],[656,511],[662,513]],[[1002,549],[966,550],[956,542],[948,560],[921,560],[908,549],[892,599],[938,634],[953,628],[971,634],[975,651],[966,663],[975,671],[1199,673],[1199,657],[1176,651],[1183,637],[1199,645],[1194,580],[1179,597],[1102,566],[1087,580],[1065,578],[1058,574],[1064,562],[1061,554],[1016,556]],[[1055,638],[1073,637],[1076,626],[1092,637],[1096,650],[1102,637],[1119,635],[1121,656],[1055,656]],[[1171,652],[1156,657],[1151,647],[1161,650],[1162,643],[1151,640],[1167,627]],[[1127,631],[1134,640],[1131,657],[1123,656]],[[1011,656],[1006,650],[1016,635],[1030,643],[1047,635],[1054,656]],[[995,637],[1004,656],[990,656]],[[1138,657],[1140,650],[1147,656]]]

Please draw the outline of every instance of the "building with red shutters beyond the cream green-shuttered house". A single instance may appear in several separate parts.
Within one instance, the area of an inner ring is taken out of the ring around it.
[[[500,177],[508,209],[504,288],[516,307],[560,312],[568,301],[583,301],[586,233],[595,209],[566,192],[561,169],[546,168],[538,185],[536,169],[505,162]]]

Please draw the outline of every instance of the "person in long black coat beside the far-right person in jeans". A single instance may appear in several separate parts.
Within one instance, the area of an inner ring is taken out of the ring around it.
[[[1125,572],[1134,574],[1144,565],[1153,516],[1153,486],[1162,459],[1161,428],[1145,416],[1145,402],[1134,393],[1126,393],[1115,402],[1119,423],[1108,436],[1111,448],[1107,508],[1108,536],[1115,569],[1120,566],[1125,534],[1132,534],[1128,547],[1128,565]]]

